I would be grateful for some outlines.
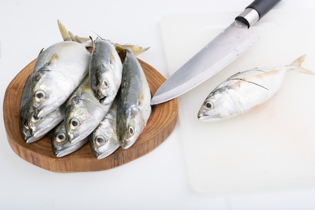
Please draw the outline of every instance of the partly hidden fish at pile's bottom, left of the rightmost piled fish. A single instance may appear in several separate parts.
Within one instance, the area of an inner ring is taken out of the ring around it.
[[[116,132],[117,122],[117,97],[114,100],[110,110],[99,126],[90,135],[90,146],[92,154],[97,159],[103,159],[119,147]]]

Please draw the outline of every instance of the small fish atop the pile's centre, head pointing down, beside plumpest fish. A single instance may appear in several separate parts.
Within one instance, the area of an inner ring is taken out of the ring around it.
[[[89,76],[95,95],[103,104],[111,103],[119,90],[122,78],[122,62],[111,42],[94,40]]]

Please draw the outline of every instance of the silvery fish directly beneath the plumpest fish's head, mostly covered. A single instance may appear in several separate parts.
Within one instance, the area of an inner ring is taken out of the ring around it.
[[[32,110],[32,108],[31,108]],[[38,118],[33,112],[29,115],[28,125],[33,139],[28,139],[26,143],[32,143],[48,134],[55,126],[64,119],[64,104],[51,113]]]

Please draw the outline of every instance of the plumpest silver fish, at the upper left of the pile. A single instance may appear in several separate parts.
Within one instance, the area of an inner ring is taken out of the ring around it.
[[[38,118],[60,107],[88,74],[87,46],[63,41],[38,55],[32,72],[32,107]]]

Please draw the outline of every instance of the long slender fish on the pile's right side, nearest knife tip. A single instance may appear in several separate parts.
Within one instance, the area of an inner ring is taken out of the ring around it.
[[[138,139],[151,114],[151,93],[143,69],[131,50],[125,49],[117,109],[117,139],[128,149]]]

